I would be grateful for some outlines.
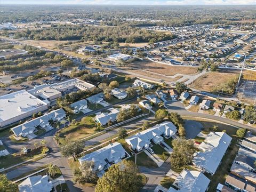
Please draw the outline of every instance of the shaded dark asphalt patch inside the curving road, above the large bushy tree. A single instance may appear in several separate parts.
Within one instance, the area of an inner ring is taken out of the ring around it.
[[[193,120],[186,120],[185,121],[185,129],[186,129],[186,138],[187,139],[194,139],[198,133],[200,133],[203,128],[201,123],[198,123]]]

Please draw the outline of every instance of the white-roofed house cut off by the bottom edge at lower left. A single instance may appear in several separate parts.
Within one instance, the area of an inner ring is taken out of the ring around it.
[[[20,192],[50,192],[53,189],[52,181],[49,181],[48,175],[28,177],[18,187]]]

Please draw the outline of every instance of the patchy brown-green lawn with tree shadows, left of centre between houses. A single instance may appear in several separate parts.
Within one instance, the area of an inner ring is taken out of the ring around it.
[[[93,121],[93,115],[85,116],[77,125],[70,125],[60,131],[60,143],[65,145],[67,142],[81,140],[90,134],[93,134],[96,126]]]

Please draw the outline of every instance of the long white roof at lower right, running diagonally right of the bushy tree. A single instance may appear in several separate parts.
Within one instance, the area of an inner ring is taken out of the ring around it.
[[[214,174],[231,140],[232,138],[224,132],[209,133],[199,145],[199,149],[202,151],[195,153],[193,162]]]

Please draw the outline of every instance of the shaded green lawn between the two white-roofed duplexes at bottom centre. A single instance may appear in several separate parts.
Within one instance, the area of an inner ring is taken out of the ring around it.
[[[127,158],[127,160],[135,162],[135,155]],[[145,166],[148,168],[157,168],[158,167],[157,164],[145,152],[141,152],[137,155],[137,165]]]

